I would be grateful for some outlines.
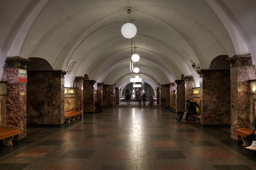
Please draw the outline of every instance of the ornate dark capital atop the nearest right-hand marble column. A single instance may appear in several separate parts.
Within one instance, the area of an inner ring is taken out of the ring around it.
[[[233,57],[226,58],[229,67],[235,66],[249,66],[252,65],[251,55],[234,55]]]

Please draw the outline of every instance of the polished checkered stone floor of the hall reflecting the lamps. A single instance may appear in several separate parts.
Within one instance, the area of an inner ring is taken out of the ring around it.
[[[175,120],[170,109],[122,102],[62,127],[28,127],[27,140],[1,146],[0,169],[256,169],[230,128]]]

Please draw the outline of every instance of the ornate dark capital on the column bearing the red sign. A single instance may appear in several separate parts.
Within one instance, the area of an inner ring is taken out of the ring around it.
[[[4,62],[4,68],[21,68],[27,69],[31,60],[27,58],[22,58],[19,56],[16,57],[7,57]]]

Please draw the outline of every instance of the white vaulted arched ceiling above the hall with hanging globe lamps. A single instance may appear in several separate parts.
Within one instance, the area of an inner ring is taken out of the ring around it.
[[[141,72],[160,84],[193,75],[199,86],[191,60],[209,69],[212,58],[220,54],[248,52],[255,59],[255,19],[244,19],[255,18],[255,1],[236,2],[239,6],[222,0],[2,0],[1,68],[5,57],[12,55],[43,58],[53,70],[67,70],[76,61],[65,76],[65,86],[71,87],[75,76],[84,74],[113,84],[130,73],[131,39],[120,31],[130,6]],[[238,7],[239,16],[232,11]]]

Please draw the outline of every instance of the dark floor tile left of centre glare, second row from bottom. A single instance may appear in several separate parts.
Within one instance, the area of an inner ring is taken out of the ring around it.
[[[89,158],[93,152],[92,150],[68,150],[60,158]]]

